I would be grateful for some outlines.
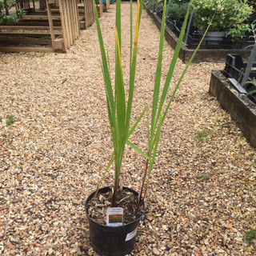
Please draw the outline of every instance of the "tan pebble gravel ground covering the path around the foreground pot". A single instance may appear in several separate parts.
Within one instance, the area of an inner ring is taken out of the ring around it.
[[[111,63],[114,11],[111,5],[100,18]],[[126,84],[128,13],[123,2]],[[158,38],[143,10],[134,118],[150,103]],[[173,54],[164,47],[163,78]],[[1,255],[97,255],[83,203],[111,154],[100,60],[95,24],[67,54],[0,54]],[[174,82],[184,66],[178,61]],[[255,243],[244,241],[246,230],[256,229],[255,149],[208,94],[211,70],[220,68],[223,64],[194,63],[183,80],[162,130],[132,255],[256,255]],[[207,139],[198,142],[202,130]],[[145,150],[145,121],[131,141]],[[125,186],[138,190],[143,165],[127,147]],[[112,174],[104,185],[111,184]]]

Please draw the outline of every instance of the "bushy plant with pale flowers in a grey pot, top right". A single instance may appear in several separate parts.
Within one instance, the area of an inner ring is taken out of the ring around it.
[[[233,40],[242,38],[250,26],[246,23],[252,14],[253,6],[247,0],[191,0],[190,4],[194,10],[194,26],[199,31],[206,31],[211,23],[210,30],[206,34],[206,40],[222,40],[226,34],[230,34]],[[211,37],[216,36],[216,38]]]

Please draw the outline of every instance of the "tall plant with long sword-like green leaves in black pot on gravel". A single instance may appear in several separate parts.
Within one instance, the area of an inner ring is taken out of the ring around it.
[[[134,33],[132,26],[132,1],[130,1],[130,82],[129,92],[126,97],[126,90],[122,74],[121,58],[121,0],[116,3],[116,30],[115,30],[115,79],[114,86],[111,84],[110,67],[108,56],[103,44],[102,32],[99,24],[98,13],[94,2],[95,22],[98,30],[98,39],[102,54],[102,74],[106,89],[106,111],[108,112],[110,122],[110,134],[113,142],[113,154],[106,170],[98,183],[97,189],[86,199],[85,210],[90,225],[90,242],[99,254],[103,255],[126,255],[134,248],[138,223],[144,212],[144,200],[150,180],[150,174],[153,170],[154,159],[158,150],[158,142],[163,122],[170,109],[170,104],[186,74],[190,62],[194,58],[196,51],[183,70],[181,78],[178,80],[170,98],[167,98],[167,92],[170,86],[171,78],[174,74],[175,64],[178,60],[178,52],[182,46],[182,38],[185,34],[186,22],[189,15],[189,8],[186,12],[184,24],[180,37],[178,38],[174,56],[170,62],[169,71],[163,89],[160,90],[162,73],[162,52],[165,34],[165,15],[162,16],[162,27],[158,51],[158,66],[154,81],[154,96],[152,99],[152,108],[145,106],[138,120],[130,126],[132,115],[132,103],[134,98],[134,80],[138,51],[138,30],[142,16],[143,2],[137,2],[136,19]],[[164,2],[164,11],[166,11],[166,2]],[[133,40],[134,38],[134,40]],[[199,46],[198,46],[199,47]],[[146,115],[148,120],[148,149],[147,153],[142,152],[130,142],[130,135],[137,128],[140,120]],[[126,188],[122,184],[122,158],[126,146],[131,146],[146,158],[145,171],[142,178],[142,186],[139,192]],[[113,187],[100,188],[102,180],[110,166],[114,163],[114,185]]]

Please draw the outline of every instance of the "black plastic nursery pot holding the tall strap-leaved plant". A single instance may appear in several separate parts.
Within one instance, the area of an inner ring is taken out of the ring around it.
[[[138,192],[135,190],[127,187],[124,187],[123,189],[129,190],[138,196]],[[110,186],[106,186],[98,190],[98,193],[104,194],[109,190]],[[138,224],[144,214],[145,205],[143,205],[141,216],[134,220],[134,222],[130,222],[122,226],[106,226],[95,222],[92,218],[90,218],[87,212],[86,206],[88,202],[90,202],[90,199],[94,196],[94,193],[95,191],[90,194],[90,196],[86,199],[85,204],[86,216],[90,226],[91,245],[98,254],[106,256],[123,256],[129,254],[134,249]]]

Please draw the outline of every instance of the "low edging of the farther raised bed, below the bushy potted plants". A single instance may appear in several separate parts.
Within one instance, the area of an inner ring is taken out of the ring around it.
[[[150,10],[144,4],[144,9],[154,19],[154,23],[158,27],[158,30],[161,30],[161,19]],[[176,35],[166,26],[165,31],[166,42],[175,49],[175,46],[178,42]],[[250,57],[251,50],[242,50],[242,49],[199,49],[197,54],[195,54],[193,62],[225,62],[226,54],[240,54],[244,61],[248,61]],[[186,46],[182,45],[182,48],[178,54],[178,58],[182,59],[182,62],[188,62],[194,53],[194,49],[189,49]]]

